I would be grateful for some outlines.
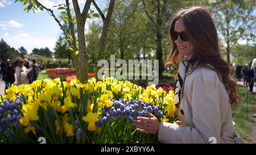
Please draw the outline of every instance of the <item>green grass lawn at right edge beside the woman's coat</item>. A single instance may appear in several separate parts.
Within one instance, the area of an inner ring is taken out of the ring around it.
[[[241,94],[241,97],[245,97],[246,93],[246,87],[245,86],[239,86],[239,91]],[[241,107],[242,106],[242,107]],[[240,109],[240,112],[237,114],[238,110]],[[253,128],[254,118],[251,116],[252,114],[256,113],[256,99],[254,98],[253,93],[250,91],[247,91],[247,95],[243,101],[237,106],[237,110],[233,112],[233,118],[236,116],[236,118],[233,120],[236,125],[236,132],[237,134],[242,137],[242,139],[246,140],[247,142],[250,141],[250,134],[251,130]]]

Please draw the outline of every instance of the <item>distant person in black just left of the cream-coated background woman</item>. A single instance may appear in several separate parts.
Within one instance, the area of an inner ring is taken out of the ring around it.
[[[6,86],[5,89],[8,89],[11,87],[12,84],[15,82],[15,66],[12,61],[9,61],[9,63],[6,65]]]

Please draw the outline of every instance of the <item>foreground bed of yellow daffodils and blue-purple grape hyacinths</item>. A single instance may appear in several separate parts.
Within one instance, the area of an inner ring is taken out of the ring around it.
[[[12,109],[3,108],[7,102]],[[136,132],[134,119],[148,112],[159,121],[176,119],[173,91],[114,78],[12,85],[0,105],[0,143],[38,143],[39,137],[46,143],[158,143],[155,136]],[[6,126],[6,120],[13,124]]]

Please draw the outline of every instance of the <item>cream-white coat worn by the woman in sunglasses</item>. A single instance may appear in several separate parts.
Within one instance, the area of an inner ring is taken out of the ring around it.
[[[178,115],[182,125],[160,123],[161,143],[243,143],[236,136],[229,95],[207,68],[187,73]]]

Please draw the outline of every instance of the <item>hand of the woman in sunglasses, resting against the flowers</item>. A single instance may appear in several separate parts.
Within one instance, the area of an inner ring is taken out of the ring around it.
[[[158,133],[160,123],[158,119],[151,113],[148,113],[149,118],[138,117],[134,120],[133,125],[137,127],[137,131],[141,133]]]

